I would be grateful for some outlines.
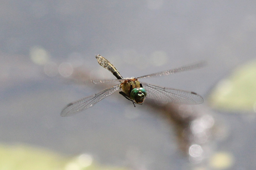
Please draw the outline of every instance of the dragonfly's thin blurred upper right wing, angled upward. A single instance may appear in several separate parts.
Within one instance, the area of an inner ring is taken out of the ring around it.
[[[205,65],[206,65],[206,62],[202,61],[202,62],[198,62],[197,64],[192,64],[192,65],[189,65],[189,66],[184,66],[184,67],[180,67],[180,68],[161,71],[161,72],[158,72],[158,73],[152,73],[152,74],[144,75],[144,76],[141,76],[141,77],[137,77],[137,79],[146,79],[146,78],[156,77],[156,76],[166,76],[166,75],[170,75],[170,74],[173,74],[173,73],[178,73],[178,72],[182,72],[182,71],[188,71],[188,70],[192,70],[192,69],[201,68]]]

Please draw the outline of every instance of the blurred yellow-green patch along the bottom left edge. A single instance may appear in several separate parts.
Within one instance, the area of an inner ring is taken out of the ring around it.
[[[0,145],[1,170],[130,170],[94,163],[90,154],[65,157],[43,148],[23,144]]]

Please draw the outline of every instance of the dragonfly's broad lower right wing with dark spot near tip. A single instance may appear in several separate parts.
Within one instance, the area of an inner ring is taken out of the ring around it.
[[[204,99],[200,95],[191,91],[159,87],[145,82],[141,82],[141,84],[147,91],[146,97],[159,102],[176,104],[200,104],[204,102]]]

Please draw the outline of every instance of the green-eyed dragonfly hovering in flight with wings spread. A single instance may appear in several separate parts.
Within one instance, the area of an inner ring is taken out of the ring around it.
[[[111,62],[101,55],[95,55],[100,66],[108,69],[117,79],[102,79],[102,80],[76,80],[76,84],[99,84],[106,82],[118,82],[117,85],[100,91],[95,95],[85,97],[75,102],[69,103],[61,112],[62,117],[72,116],[76,113],[82,112],[82,110],[94,106],[97,102],[105,99],[113,94],[115,91],[124,96],[126,99],[132,101],[134,104],[143,104],[145,98],[153,99],[162,103],[174,103],[174,104],[200,104],[204,102],[203,98],[195,92],[178,90],[167,87],[160,87],[145,82],[140,82],[139,79],[147,79],[152,77],[162,77],[171,75],[173,73],[192,70],[200,68],[204,65],[203,62],[192,64],[189,66],[183,66],[176,69],[169,69],[158,73],[152,73],[137,78],[124,79],[119,71],[115,68]]]

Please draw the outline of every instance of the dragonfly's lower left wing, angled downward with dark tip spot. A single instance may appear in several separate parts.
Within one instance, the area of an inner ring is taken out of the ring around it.
[[[117,90],[120,90],[120,84],[117,84],[111,88],[101,91],[100,93],[97,93],[95,95],[85,97],[76,102],[72,102],[62,110],[61,116],[63,117],[72,116],[78,112],[81,112],[83,109],[86,109],[95,105],[97,102],[108,97],[109,95],[113,94]]]

